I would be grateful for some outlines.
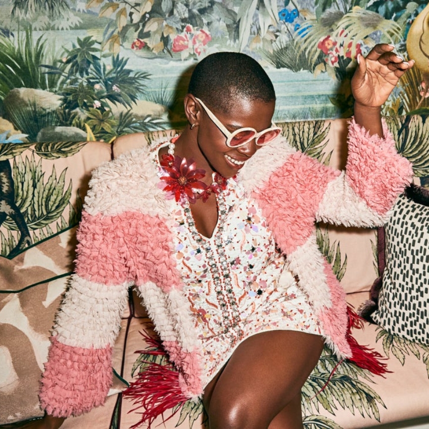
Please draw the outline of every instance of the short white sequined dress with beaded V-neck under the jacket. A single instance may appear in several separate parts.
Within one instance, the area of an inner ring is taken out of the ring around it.
[[[175,258],[202,351],[203,386],[252,335],[270,330],[320,335],[260,208],[234,178],[227,183],[217,196],[218,223],[210,238],[197,231],[187,200],[173,213]]]

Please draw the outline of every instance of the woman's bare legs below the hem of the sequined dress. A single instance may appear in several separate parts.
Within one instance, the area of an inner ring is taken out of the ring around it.
[[[322,349],[320,336],[296,331],[243,341],[204,390],[210,429],[301,429],[301,387]]]

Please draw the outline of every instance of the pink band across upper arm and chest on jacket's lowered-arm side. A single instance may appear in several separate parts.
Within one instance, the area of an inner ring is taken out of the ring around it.
[[[152,281],[164,291],[181,287],[171,232],[157,217],[127,211],[115,216],[82,213],[76,273],[106,285]]]

